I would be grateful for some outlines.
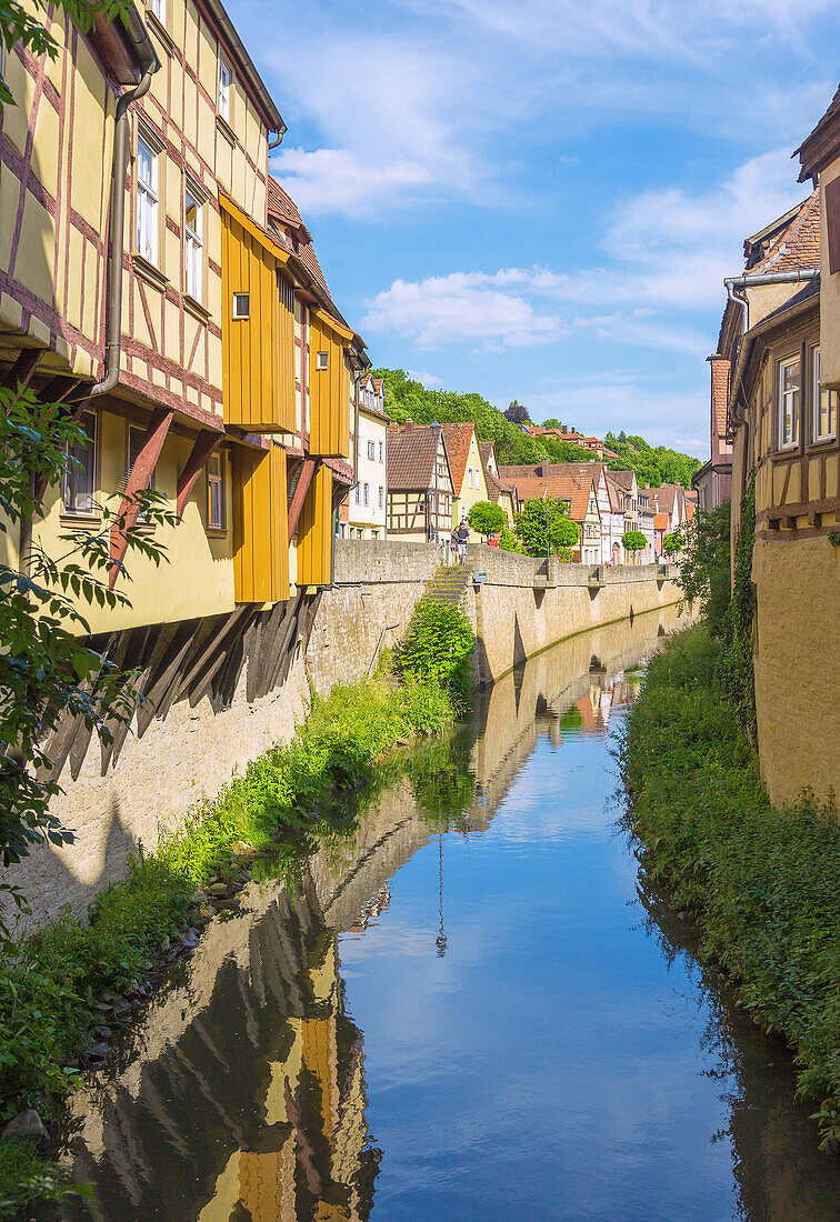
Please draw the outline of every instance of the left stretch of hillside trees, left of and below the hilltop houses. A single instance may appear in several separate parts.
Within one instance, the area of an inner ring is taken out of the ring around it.
[[[592,462],[593,456],[580,446],[555,437],[532,437],[481,395],[459,395],[449,390],[427,390],[403,369],[374,369],[385,390],[385,411],[405,424],[460,424],[471,420],[479,441],[493,441],[496,461],[503,464],[549,462]]]

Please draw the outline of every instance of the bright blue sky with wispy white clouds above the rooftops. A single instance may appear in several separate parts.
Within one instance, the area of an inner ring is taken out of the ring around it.
[[[702,456],[721,279],[805,198],[830,0],[230,0],[374,364]]]

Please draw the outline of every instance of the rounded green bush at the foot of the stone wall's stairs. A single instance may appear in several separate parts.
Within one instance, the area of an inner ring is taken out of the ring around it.
[[[414,607],[397,666],[408,678],[439,684],[463,709],[470,700],[474,643],[470,621],[460,607],[427,596]]]

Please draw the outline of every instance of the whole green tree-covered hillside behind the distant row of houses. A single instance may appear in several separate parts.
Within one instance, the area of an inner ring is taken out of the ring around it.
[[[414,381],[403,369],[374,369],[374,378],[381,378],[385,390],[385,411],[400,424],[413,420],[414,424],[460,424],[471,420],[481,441],[493,441],[496,459],[500,464],[515,466],[543,462],[597,462],[594,455],[581,446],[556,437],[532,437],[522,433],[520,424],[529,420],[528,409],[517,400],[506,412],[483,398],[481,395],[459,395],[451,390],[427,390],[422,382]],[[559,428],[559,420],[547,420],[551,428]],[[616,437],[608,433],[606,446],[620,457],[610,458],[606,466],[613,470],[635,470],[641,485],[659,485],[663,481],[691,486],[691,477],[701,463],[697,458],[669,450],[665,446],[649,446],[639,436],[627,436],[624,431]]]

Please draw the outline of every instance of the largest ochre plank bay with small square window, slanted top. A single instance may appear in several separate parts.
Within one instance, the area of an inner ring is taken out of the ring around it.
[[[293,433],[295,297],[270,244],[223,208],[223,400],[225,423],[249,433]],[[234,295],[249,316],[234,318]]]

